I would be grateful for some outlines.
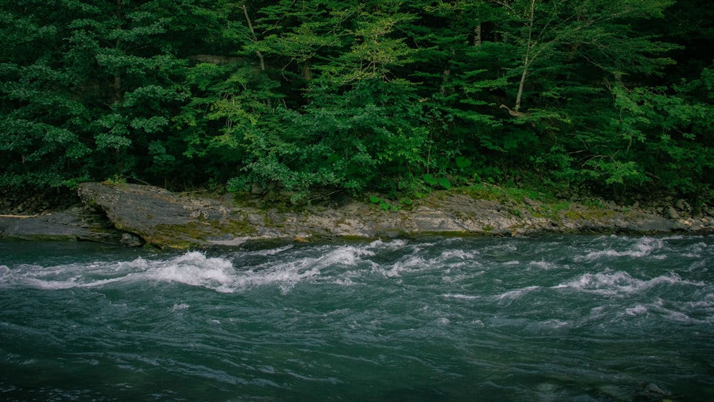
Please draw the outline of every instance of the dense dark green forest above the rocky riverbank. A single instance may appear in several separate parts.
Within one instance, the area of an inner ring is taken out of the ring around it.
[[[0,188],[714,198],[709,0],[0,0]]]

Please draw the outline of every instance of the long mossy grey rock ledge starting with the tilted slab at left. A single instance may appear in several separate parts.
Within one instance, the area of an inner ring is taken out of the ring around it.
[[[154,186],[85,183],[81,200],[106,213],[116,228],[166,248],[237,246],[253,240],[310,241],[393,236],[519,236],[541,232],[707,231],[703,222],[670,219],[639,208],[553,206],[531,199],[502,203],[469,194],[434,193],[409,208],[379,208],[348,197],[302,207],[277,208],[258,196],[237,202],[178,195]],[[251,201],[252,200],[252,201]],[[125,238],[125,241],[130,241]]]

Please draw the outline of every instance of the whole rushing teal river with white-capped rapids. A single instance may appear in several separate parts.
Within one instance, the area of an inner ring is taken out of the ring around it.
[[[0,242],[0,371],[7,401],[713,401],[714,237]]]

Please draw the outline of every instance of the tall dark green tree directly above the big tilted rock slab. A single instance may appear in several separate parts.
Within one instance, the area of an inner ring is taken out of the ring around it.
[[[78,3],[69,22],[66,65],[84,87],[78,96],[95,107],[96,169],[106,176],[155,179],[178,168],[170,119],[188,94],[176,84],[185,63],[171,44],[178,10],[169,3]]]

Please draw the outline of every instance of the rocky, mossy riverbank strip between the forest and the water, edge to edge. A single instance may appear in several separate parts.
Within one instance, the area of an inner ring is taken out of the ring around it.
[[[27,201],[23,209],[11,208],[5,201],[0,238],[209,248],[248,241],[424,235],[714,232],[714,208],[692,208],[683,199],[617,205],[598,199],[549,199],[544,194],[486,184],[400,201],[329,193],[292,204],[287,197],[268,192],[175,194],[156,186],[84,183],[76,196],[61,199],[60,208],[41,211]]]

